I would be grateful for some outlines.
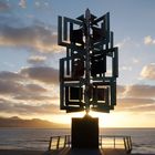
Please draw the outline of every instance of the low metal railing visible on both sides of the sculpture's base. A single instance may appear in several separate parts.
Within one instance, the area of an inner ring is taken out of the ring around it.
[[[49,151],[71,147],[71,135],[51,136]],[[100,148],[123,148],[127,154],[132,152],[132,138],[126,135],[100,135]]]

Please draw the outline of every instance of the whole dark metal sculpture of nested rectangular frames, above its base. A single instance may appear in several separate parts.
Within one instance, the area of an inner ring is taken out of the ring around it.
[[[113,46],[110,13],[96,18],[90,10],[76,19],[59,17],[60,108],[66,112],[110,112],[116,105],[118,50]]]

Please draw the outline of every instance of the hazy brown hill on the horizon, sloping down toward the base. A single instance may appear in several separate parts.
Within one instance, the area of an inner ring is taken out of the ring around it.
[[[50,121],[32,118],[22,120],[18,116],[0,117],[0,127],[28,127],[28,128],[66,128],[69,125],[56,124]]]

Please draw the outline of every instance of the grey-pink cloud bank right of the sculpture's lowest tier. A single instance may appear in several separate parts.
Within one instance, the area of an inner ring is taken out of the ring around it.
[[[148,112],[155,107],[154,85],[118,85],[116,111]],[[142,108],[142,111],[141,111]]]

